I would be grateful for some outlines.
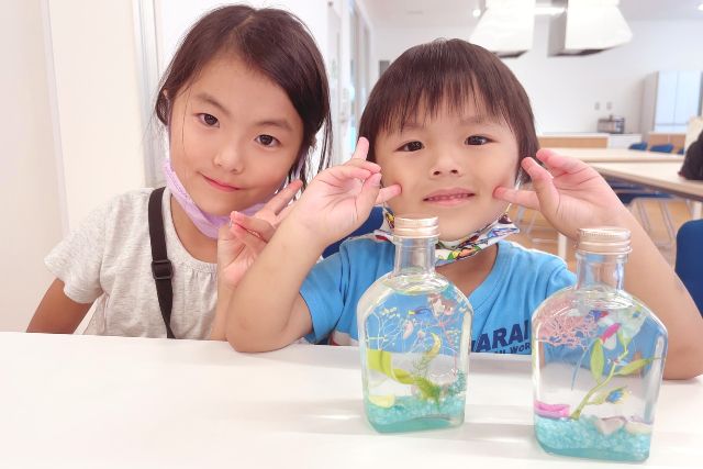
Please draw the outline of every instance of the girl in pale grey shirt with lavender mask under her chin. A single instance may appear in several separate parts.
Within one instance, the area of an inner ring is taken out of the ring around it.
[[[326,166],[322,56],[305,26],[281,10],[230,5],[203,16],[166,71],[156,115],[169,136],[163,198],[156,193],[150,211],[150,190],[119,196],[60,243],[46,258],[56,280],[27,332],[72,333],[94,302],[87,333],[208,337],[220,227],[236,211],[233,220],[249,235],[268,239],[304,183],[323,125],[320,169]],[[299,175],[302,182],[281,190]],[[163,217],[147,222],[159,208]],[[257,211],[258,219],[248,216]],[[149,225],[161,225],[160,237],[150,239]],[[219,273],[236,284],[252,259],[228,230],[222,233],[220,253],[231,264]],[[164,234],[169,260],[153,265]],[[171,287],[172,298],[161,287]]]

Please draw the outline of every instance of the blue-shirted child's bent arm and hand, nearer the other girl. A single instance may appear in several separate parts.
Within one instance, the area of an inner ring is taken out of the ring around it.
[[[352,160],[315,177],[291,213],[232,292],[226,337],[242,351],[284,347],[312,331],[299,294],[324,248],[352,233],[375,203],[400,193],[380,189],[380,167],[366,161],[368,142],[359,141]]]

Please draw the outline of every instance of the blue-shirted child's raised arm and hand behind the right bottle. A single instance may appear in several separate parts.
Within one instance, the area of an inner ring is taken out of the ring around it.
[[[534,191],[496,188],[494,196],[539,210],[560,233],[576,241],[589,226],[622,226],[632,232],[625,290],[644,301],[669,333],[665,378],[688,379],[703,373],[703,317],[671,266],[659,253],[615,192],[593,168],[581,160],[539,150],[537,159],[522,161]],[[635,275],[637,272],[637,275]]]

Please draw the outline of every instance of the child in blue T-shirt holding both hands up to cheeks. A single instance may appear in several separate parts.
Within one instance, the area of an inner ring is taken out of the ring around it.
[[[303,336],[354,344],[357,302],[392,270],[394,246],[352,239],[312,267],[375,202],[389,201],[394,213],[438,216],[437,271],[473,305],[472,349],[529,354],[532,312],[574,276],[558,257],[502,241],[515,231],[503,217],[515,202],[539,210],[571,239],[581,226],[629,228],[628,269],[647,275],[628,276],[626,289],[669,330],[666,376],[703,372],[703,320],[691,297],[595,170],[537,152],[527,96],[493,54],[458,40],[406,51],[373,88],[359,134],[370,145],[361,138],[354,159],[317,175],[233,293],[233,347],[270,350]],[[527,157],[535,154],[545,167]],[[535,191],[513,189],[523,175]],[[278,261],[291,252],[295,263]],[[276,294],[266,294],[271,284]]]

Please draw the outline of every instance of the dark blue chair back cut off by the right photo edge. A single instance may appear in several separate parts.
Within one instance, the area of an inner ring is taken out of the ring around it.
[[[703,220],[691,220],[679,228],[674,269],[703,315]]]

